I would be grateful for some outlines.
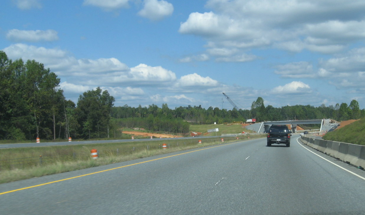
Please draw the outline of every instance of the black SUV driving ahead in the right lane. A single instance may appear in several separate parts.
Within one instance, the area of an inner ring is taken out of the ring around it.
[[[268,131],[267,141],[268,145],[271,146],[271,144],[281,144],[284,143],[287,145],[287,147],[290,147],[290,136],[291,131],[288,129],[288,126],[286,125],[271,125],[270,129]]]

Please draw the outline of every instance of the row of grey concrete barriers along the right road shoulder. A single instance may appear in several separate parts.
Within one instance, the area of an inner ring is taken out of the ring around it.
[[[301,141],[331,157],[349,163],[355,167],[365,168],[365,145],[336,142],[309,137],[301,137]]]

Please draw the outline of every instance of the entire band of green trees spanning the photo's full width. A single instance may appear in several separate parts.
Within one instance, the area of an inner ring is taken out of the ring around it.
[[[337,121],[365,116],[356,100],[335,106],[295,105],[265,107],[258,97],[250,110],[199,106],[114,107],[115,99],[97,87],[80,95],[77,103],[67,100],[60,79],[35,60],[8,59],[0,51],[0,139],[34,140],[120,137],[122,128],[145,128],[157,132],[188,133],[190,124],[332,118]]]

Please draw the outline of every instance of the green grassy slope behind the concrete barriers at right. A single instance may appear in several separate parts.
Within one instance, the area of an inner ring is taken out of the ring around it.
[[[323,136],[323,139],[365,145],[365,118],[357,120],[343,128],[340,126],[332,132],[327,132]]]

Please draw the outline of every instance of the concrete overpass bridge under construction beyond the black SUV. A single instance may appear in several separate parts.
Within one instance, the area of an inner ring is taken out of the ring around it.
[[[252,125],[246,126],[246,129],[253,130],[256,133],[264,133],[264,131],[269,130],[271,125],[291,125],[291,129],[293,133],[296,132],[297,125],[303,124],[320,124],[320,131],[326,132],[334,127],[338,126],[338,122],[335,122],[331,119],[322,119],[322,120],[287,120],[287,121],[266,121],[266,122],[258,122]]]

